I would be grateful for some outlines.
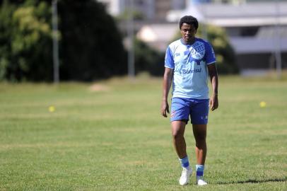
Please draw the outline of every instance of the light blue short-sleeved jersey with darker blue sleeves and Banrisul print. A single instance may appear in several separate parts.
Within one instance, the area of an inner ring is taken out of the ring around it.
[[[165,53],[165,67],[173,69],[172,98],[209,99],[208,64],[216,62],[214,51],[205,40],[184,45],[172,42]]]

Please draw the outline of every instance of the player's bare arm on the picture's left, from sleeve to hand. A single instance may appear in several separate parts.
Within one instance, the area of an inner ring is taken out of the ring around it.
[[[170,113],[168,105],[168,93],[170,92],[170,86],[172,82],[172,69],[165,68],[165,74],[163,74],[163,99],[161,101],[161,115],[168,117],[167,113]]]

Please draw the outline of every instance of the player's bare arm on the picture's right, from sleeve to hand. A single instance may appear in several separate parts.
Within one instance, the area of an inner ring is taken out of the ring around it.
[[[209,107],[213,111],[218,108],[218,74],[215,63],[209,64],[207,67],[209,69],[209,76],[212,87],[212,95],[209,100]]]

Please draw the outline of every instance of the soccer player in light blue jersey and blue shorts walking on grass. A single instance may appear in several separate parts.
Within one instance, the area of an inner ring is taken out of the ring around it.
[[[198,26],[197,18],[182,17],[180,19],[182,38],[172,42],[165,53],[161,114],[167,117],[167,113],[170,113],[168,93],[172,84],[170,122],[173,145],[182,166],[180,185],[187,185],[189,176],[192,175],[184,137],[189,116],[196,142],[196,183],[197,185],[207,184],[203,178],[206,158],[206,125],[209,108],[211,110],[218,108],[216,57],[209,42],[195,37]],[[208,74],[212,87],[210,99]]]

